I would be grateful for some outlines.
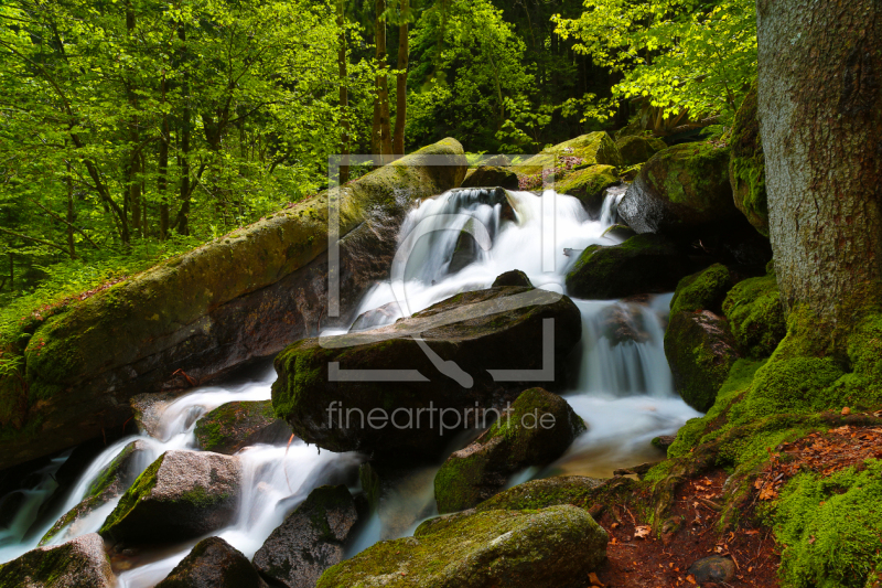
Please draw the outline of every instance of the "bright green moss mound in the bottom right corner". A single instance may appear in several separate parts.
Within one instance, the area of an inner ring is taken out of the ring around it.
[[[882,566],[882,461],[787,482],[767,513],[793,588],[863,588]]]

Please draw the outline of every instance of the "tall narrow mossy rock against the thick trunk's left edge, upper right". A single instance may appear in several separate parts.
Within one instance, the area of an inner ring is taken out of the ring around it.
[[[768,236],[768,202],[765,191],[765,156],[756,117],[756,82],[741,103],[732,126],[729,181],[735,206],[761,234]]]

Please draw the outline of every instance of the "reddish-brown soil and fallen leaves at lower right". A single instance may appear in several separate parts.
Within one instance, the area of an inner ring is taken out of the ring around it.
[[[874,416],[882,416],[882,411]],[[701,582],[702,588],[777,587],[779,546],[772,530],[759,522],[757,506],[775,500],[779,489],[799,472],[828,477],[846,468],[861,471],[868,459],[882,459],[882,427],[846,425],[777,447],[770,452],[770,460],[753,484],[747,506],[740,513],[740,528],[723,536],[717,532],[720,512],[714,509],[728,478],[722,469],[704,472],[679,485],[671,515],[682,517],[684,523],[664,539],[656,538],[627,506],[612,505],[596,517],[610,534],[610,543],[607,560],[590,578],[589,586],[698,586],[690,566],[717,555],[732,559],[734,576],[725,582]]]

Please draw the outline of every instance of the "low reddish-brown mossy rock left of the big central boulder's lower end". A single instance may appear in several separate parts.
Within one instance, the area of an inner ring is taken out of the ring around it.
[[[251,445],[283,443],[291,437],[291,427],[276,418],[269,400],[234,402],[203,416],[194,432],[203,451],[232,456]]]

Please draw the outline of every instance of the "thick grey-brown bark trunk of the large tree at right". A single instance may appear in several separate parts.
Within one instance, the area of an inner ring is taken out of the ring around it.
[[[782,300],[847,327],[882,278],[882,4],[759,0],[757,26]]]

